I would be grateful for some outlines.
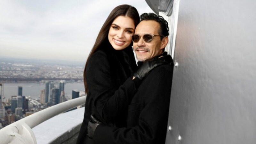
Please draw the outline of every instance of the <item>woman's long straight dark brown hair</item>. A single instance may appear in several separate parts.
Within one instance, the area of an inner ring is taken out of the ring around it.
[[[92,47],[92,50],[87,58],[87,61],[85,63],[84,67],[84,87],[85,87],[85,92],[86,94],[88,93],[88,87],[87,87],[87,82],[86,82],[86,67],[88,60],[91,58],[92,54],[94,54],[104,42],[108,41],[108,31],[109,28],[114,21],[114,19],[118,16],[127,16],[133,19],[135,27],[139,24],[140,22],[140,16],[136,8],[134,8],[131,5],[123,4],[115,7],[110,14],[108,15],[108,18],[104,22],[103,26],[100,29],[100,32],[97,36],[96,42]],[[130,45],[131,46],[131,45]]]

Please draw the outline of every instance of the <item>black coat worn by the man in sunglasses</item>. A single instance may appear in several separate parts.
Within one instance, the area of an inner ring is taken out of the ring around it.
[[[145,77],[128,109],[127,127],[100,124],[96,144],[164,144],[172,87],[173,63],[153,69]]]

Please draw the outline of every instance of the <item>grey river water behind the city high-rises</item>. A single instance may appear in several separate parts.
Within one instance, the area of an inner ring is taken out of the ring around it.
[[[22,95],[37,98],[41,90],[44,89],[44,83],[4,83],[3,97],[11,98],[18,95],[18,86],[22,86]],[[58,87],[58,83],[55,84]],[[72,90],[84,91],[84,83],[65,83],[65,95],[71,97]]]

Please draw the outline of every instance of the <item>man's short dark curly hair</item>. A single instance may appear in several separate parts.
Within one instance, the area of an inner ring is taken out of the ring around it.
[[[156,15],[154,13],[143,13],[140,15],[140,21],[143,20],[154,20],[160,24],[160,29],[158,30],[158,34],[164,37],[169,36],[169,27],[168,22],[164,20],[162,16]],[[163,37],[161,37],[161,40]]]

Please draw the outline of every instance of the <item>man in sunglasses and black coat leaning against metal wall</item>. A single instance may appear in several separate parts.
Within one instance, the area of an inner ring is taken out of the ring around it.
[[[153,13],[144,13],[140,17],[141,22],[132,36],[139,67],[143,61],[153,57],[172,61],[170,55],[168,57],[164,52],[168,43],[168,23]],[[173,62],[154,68],[142,79],[128,107],[127,127],[89,124],[88,131],[92,133],[94,143],[165,143],[172,71]],[[136,73],[134,76],[140,77]]]

